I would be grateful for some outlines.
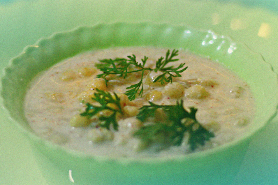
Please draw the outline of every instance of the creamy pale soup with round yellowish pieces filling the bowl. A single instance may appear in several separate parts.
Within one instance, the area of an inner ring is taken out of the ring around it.
[[[248,131],[255,114],[255,104],[245,82],[220,64],[186,51],[179,51],[178,56],[173,57],[179,60],[164,66],[176,68],[185,63],[179,70],[188,67],[179,73],[180,77],[172,77],[172,82],[153,82],[163,74],[163,70],[154,69],[161,56],[164,57],[161,61],[167,58],[166,52],[167,49],[151,47],[112,48],[63,60],[38,74],[30,83],[25,97],[25,117],[34,132],[47,140],[76,151],[112,157],[181,156],[228,143]],[[120,58],[127,63],[129,61],[122,58],[129,59],[127,56],[133,54],[137,62],[148,70],[140,71],[140,67],[130,65],[128,70],[135,72],[125,73],[126,76],[97,76],[105,70],[100,65],[96,67],[96,64],[107,64],[103,59],[115,62],[116,58]],[[141,59],[144,61],[145,56],[148,59],[143,64]],[[169,74],[166,74],[167,77]],[[143,84],[132,98],[127,93],[132,88],[128,87],[141,80]],[[139,94],[142,87],[142,94]],[[89,115],[95,108],[101,107],[96,95],[105,92],[111,93],[114,101],[119,98],[118,106],[106,103],[106,109]],[[138,118],[142,107],[150,106],[149,101],[173,108],[182,103],[189,113],[193,110],[189,107],[194,107],[197,109],[194,114],[197,121],[183,118],[180,121],[183,127],[168,132],[167,129],[172,128],[174,123],[171,113],[167,114],[163,108],[150,113],[150,118]],[[107,126],[100,120],[113,113],[116,126],[112,122]],[[179,130],[189,128],[191,123],[195,124],[192,132]],[[147,128],[157,130],[152,132]],[[201,141],[196,139],[193,146],[192,138],[200,128],[204,137]],[[182,134],[175,137],[177,133]]]

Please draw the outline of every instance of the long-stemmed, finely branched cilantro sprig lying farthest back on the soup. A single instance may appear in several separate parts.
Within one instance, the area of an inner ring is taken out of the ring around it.
[[[136,95],[142,97],[143,95],[143,76],[144,72],[147,71],[155,71],[155,72],[162,72],[161,75],[156,77],[153,82],[160,82],[161,84],[165,83],[172,83],[173,77],[181,77],[180,73],[185,71],[187,67],[184,67],[184,64],[180,64],[178,67],[169,66],[165,67],[169,62],[175,62],[179,59],[173,59],[175,56],[178,56],[178,50],[173,49],[173,51],[170,54],[170,50],[166,52],[166,56],[160,57],[158,61],[156,61],[156,68],[151,69],[145,67],[145,64],[147,62],[148,57],[144,57],[144,59],[141,59],[142,63],[138,63],[136,61],[136,56],[127,56],[126,58],[116,58],[114,60],[112,59],[103,59],[100,60],[100,64],[96,64],[96,67],[102,71],[102,74],[97,75],[98,78],[104,78],[106,85],[107,85],[107,76],[108,75],[119,75],[120,77],[126,78],[127,74],[129,73],[136,73],[136,72],[142,72],[140,81],[137,84],[133,84],[129,87],[127,87],[126,95],[128,96],[129,100],[134,100],[136,98]],[[140,90],[140,91],[139,91]],[[138,93],[139,91],[139,93]]]

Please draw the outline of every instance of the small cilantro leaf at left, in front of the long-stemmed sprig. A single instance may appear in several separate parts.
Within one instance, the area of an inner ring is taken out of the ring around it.
[[[111,95],[110,92],[105,92],[103,90],[96,89],[97,92],[94,93],[95,97],[92,97],[93,100],[98,102],[100,106],[92,105],[91,103],[86,103],[87,108],[85,112],[81,113],[81,116],[92,117],[103,111],[107,111],[108,115],[100,114],[98,119],[100,123],[98,126],[105,127],[108,130],[110,129],[110,124],[113,125],[115,130],[118,130],[118,123],[116,119],[117,112],[122,114],[122,109],[120,106],[120,98],[114,92],[114,95]],[[115,108],[116,107],[116,108]]]

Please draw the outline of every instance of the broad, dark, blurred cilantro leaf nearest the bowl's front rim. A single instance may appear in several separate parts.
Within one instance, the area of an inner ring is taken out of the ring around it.
[[[168,116],[168,123],[156,121],[138,129],[133,135],[140,137],[145,142],[155,142],[153,138],[163,134],[171,145],[181,145],[185,133],[189,134],[188,144],[191,150],[195,150],[198,145],[204,145],[206,140],[214,137],[212,132],[206,130],[196,120],[197,109],[190,107],[190,111],[183,108],[182,100],[176,105],[157,105],[149,102],[150,105],[140,108],[137,118],[146,121],[155,117],[155,111],[162,109]]]

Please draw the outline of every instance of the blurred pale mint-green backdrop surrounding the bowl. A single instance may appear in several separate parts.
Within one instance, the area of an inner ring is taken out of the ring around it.
[[[197,29],[212,29],[218,34],[244,42],[261,53],[278,71],[278,15],[272,6],[260,1],[0,1],[0,68],[8,64],[26,45],[56,31],[78,25],[115,21],[186,24]],[[268,8],[268,9],[266,9]],[[212,14],[220,21],[212,24]],[[230,23],[240,19],[244,26],[232,30]],[[257,36],[261,23],[270,25],[268,38]],[[267,84],[266,84],[267,85]],[[0,184],[47,184],[41,164],[26,138],[0,113]],[[278,117],[249,143],[246,155],[231,182],[223,184],[277,184]],[[45,164],[50,165],[50,164]],[[228,166],[227,166],[228,167]],[[59,178],[53,166],[53,178]],[[227,174],[229,176],[229,174]],[[222,183],[221,183],[222,184]]]

